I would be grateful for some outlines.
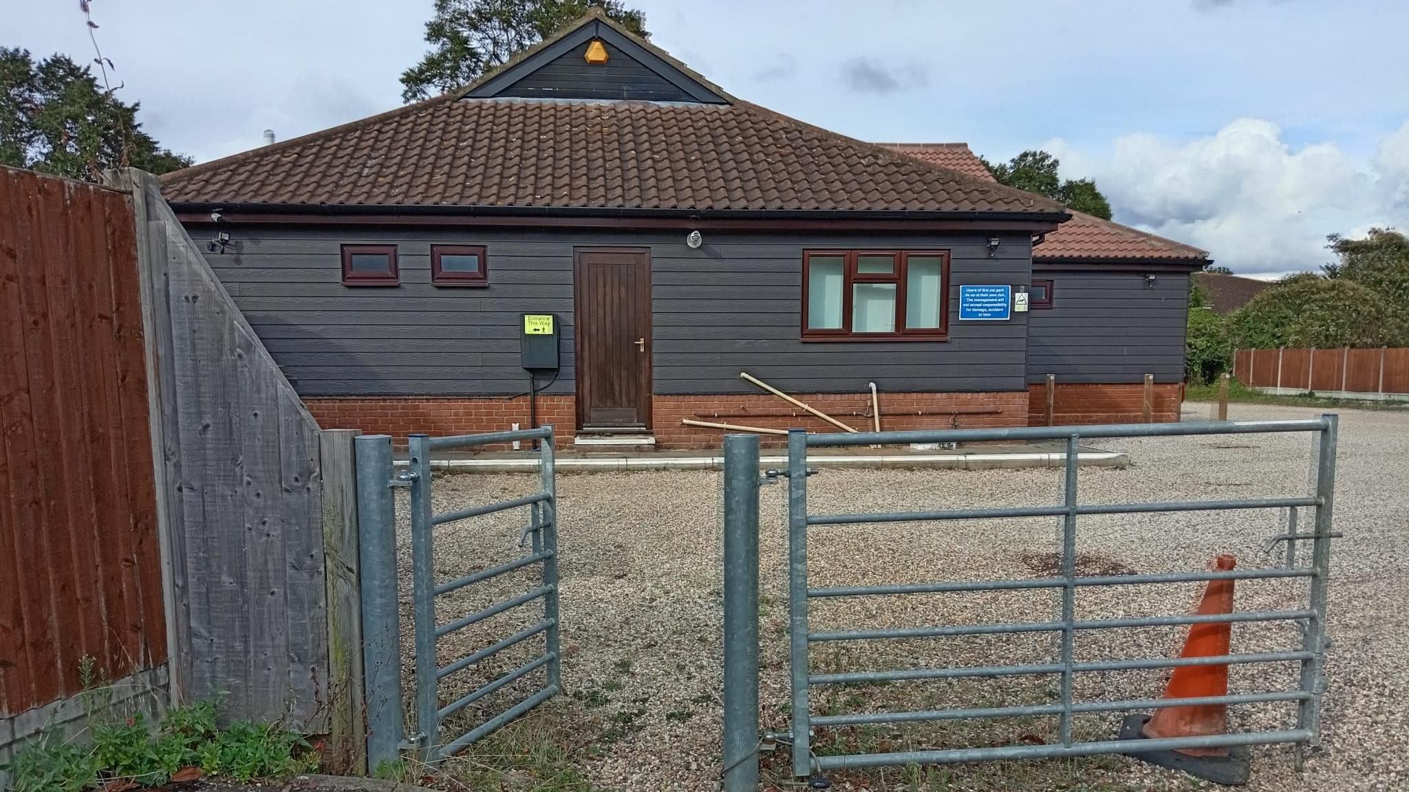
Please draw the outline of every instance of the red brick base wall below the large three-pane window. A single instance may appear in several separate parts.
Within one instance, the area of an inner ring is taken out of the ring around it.
[[[858,430],[872,431],[871,396],[857,393],[793,393],[795,399]],[[1027,395],[1017,393],[885,393],[881,428],[1013,427],[1027,420]],[[692,427],[681,419],[809,431],[843,431],[768,393],[714,396],[655,396],[655,443],[661,448],[720,448],[727,430]],[[766,445],[786,443],[783,435],[762,435]]]

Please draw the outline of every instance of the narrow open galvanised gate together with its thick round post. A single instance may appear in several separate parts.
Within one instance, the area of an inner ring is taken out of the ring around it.
[[[509,443],[538,443],[540,489],[483,506],[472,506],[437,514],[431,509],[431,459],[437,451],[458,451]],[[402,750],[416,750],[421,761],[435,764],[447,755],[462,751],[510,720],[561,692],[558,648],[558,524],[554,485],[552,427],[534,430],[468,434],[458,437],[430,437],[413,434],[407,438],[407,466],[392,475],[392,445],[387,435],[358,438],[358,510],[362,534],[362,610],[365,667],[368,675],[368,764],[375,769],[380,762],[396,761]],[[416,731],[402,738],[402,700],[399,688],[400,637],[396,610],[396,536],[395,505],[390,490],[410,490],[411,527],[411,600],[416,631]],[[434,569],[435,528],[448,523],[483,517],[511,509],[528,509],[528,520],[520,536],[520,547],[530,543],[519,558],[437,582]],[[541,583],[534,589],[506,599],[475,613],[447,623],[435,620],[435,598],[483,583],[500,575],[541,565]],[[437,643],[451,633],[464,630],[509,612],[542,600],[542,619],[533,626],[504,637],[490,645],[438,665]],[[441,682],[454,674],[489,660],[509,647],[544,636],[544,652],[534,660],[479,686],[475,691],[440,703]],[[464,734],[442,736],[444,722],[469,705],[500,691],[510,683],[544,668],[547,682],[509,709],[486,719]],[[389,669],[378,676],[378,669]]]

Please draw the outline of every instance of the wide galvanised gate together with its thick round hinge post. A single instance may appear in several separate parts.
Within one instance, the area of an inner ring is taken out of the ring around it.
[[[1248,500],[1203,500],[1167,503],[1088,503],[1078,499],[1076,462],[1078,440],[1110,437],[1171,437],[1210,434],[1312,433],[1316,452],[1315,492],[1305,497],[1265,497]],[[1065,497],[1061,503],[955,509],[937,512],[812,514],[807,512],[807,450],[847,445],[881,445],[912,443],[988,443],[1014,440],[1065,440]],[[754,789],[758,778],[758,703],[757,703],[757,531],[758,531],[758,445],[757,437],[730,435],[726,440],[726,516],[724,516],[724,590],[726,590],[726,698],[724,698],[724,786],[727,791]],[[1019,760],[1079,757],[1116,753],[1150,753],[1181,748],[1215,748],[1251,744],[1293,743],[1301,745],[1317,740],[1320,727],[1319,696],[1323,692],[1323,657],[1326,647],[1326,586],[1330,569],[1332,503],[1336,471],[1336,416],[1315,420],[1182,423],[1182,424],[1126,424],[1084,427],[1024,427],[947,431],[893,431],[854,434],[807,434],[802,430],[788,437],[788,564],[789,564],[789,641],[790,641],[790,729],[776,737],[792,743],[793,775],[805,776],[841,768],[871,768],[909,764],[969,762],[983,760]],[[1315,510],[1313,528],[1298,533],[1295,514],[1301,507]],[[1247,571],[1196,571],[1155,575],[1078,576],[1076,524],[1084,514],[1131,514],[1155,512],[1206,512],[1236,509],[1288,509],[1291,528],[1274,541],[1289,545],[1285,568]],[[1031,579],[993,579],[962,582],[927,582],[909,585],[874,585],[847,588],[807,586],[807,534],[827,526],[858,523],[945,521],[1012,517],[1061,519],[1060,576]],[[1295,543],[1310,543],[1309,564],[1296,565]],[[752,548],[755,558],[748,561]],[[1210,614],[1169,614],[1123,619],[1076,619],[1078,590],[1091,586],[1127,586],[1140,583],[1182,583],[1203,581],[1247,581],[1268,578],[1309,579],[1309,602],[1293,610],[1258,610]],[[982,592],[1014,589],[1060,589],[1061,619],[1051,621],[1019,621],[989,624],[950,624],[909,629],[826,630],[809,629],[809,602],[821,598],[868,598],[910,593]],[[1303,624],[1302,645],[1292,651],[1226,654],[1193,658],[1140,658],[1076,662],[1075,644],[1079,634],[1103,634],[1124,627],[1154,627],[1209,624],[1234,621],[1296,621]],[[807,650],[812,644],[831,641],[869,641],[888,638],[929,638],[945,636],[999,636],[1013,633],[1060,633],[1060,657],[1053,662],[995,667],[916,668],[899,671],[852,671],[816,674],[809,668]],[[1164,698],[1140,700],[1075,702],[1072,682],[1076,674],[1126,669],[1158,669],[1181,665],[1222,665],[1258,662],[1299,662],[1299,681],[1292,689],[1223,695],[1206,698]],[[1060,699],[1055,703],[1031,706],[996,706],[982,709],[945,709],[931,712],[879,712],[813,714],[809,692],[823,685],[881,683],[920,679],[993,678],[1012,675],[1060,676]],[[1150,710],[1192,705],[1240,705],[1255,702],[1298,702],[1295,729],[1217,736],[1078,741],[1072,737],[1075,713]],[[1060,719],[1060,743],[1014,744],[999,747],[964,747],[954,750],[893,751],[850,755],[816,755],[812,750],[813,730],[876,723],[920,723],[957,719],[996,719],[1017,716],[1050,716]]]

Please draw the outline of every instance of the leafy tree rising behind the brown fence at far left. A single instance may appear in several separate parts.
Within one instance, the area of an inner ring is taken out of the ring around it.
[[[127,104],[66,55],[35,62],[27,49],[0,47],[0,162],[70,179],[99,180],[104,169],[166,173],[192,163],[162,148]]]

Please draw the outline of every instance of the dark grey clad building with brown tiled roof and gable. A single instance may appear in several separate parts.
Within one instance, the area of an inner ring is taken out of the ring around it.
[[[1177,419],[1202,251],[1109,224],[1186,255],[1044,258],[1085,220],[985,175],[738,100],[592,14],[466,89],[162,185],[324,427],[826,426],[744,372],[858,428],[871,383],[883,428],[1023,426],[1047,373],[1079,420],[1126,389],[1138,412],[1153,373]]]

